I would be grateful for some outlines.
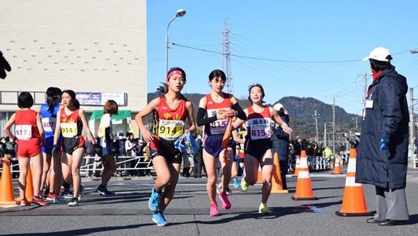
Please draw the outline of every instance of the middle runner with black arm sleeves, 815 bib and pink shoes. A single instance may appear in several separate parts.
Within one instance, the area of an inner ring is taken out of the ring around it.
[[[198,126],[205,126],[203,162],[205,163],[206,173],[208,175],[206,191],[208,192],[210,201],[209,215],[212,217],[219,215],[216,203],[216,166],[218,157],[222,168],[222,187],[219,189],[219,199],[222,202],[222,208],[231,208],[231,202],[226,196],[226,189],[228,189],[229,181],[231,180],[232,161],[225,161],[226,158],[224,157],[222,142],[230,119],[232,117],[246,119],[246,116],[235,97],[231,94],[222,92],[226,83],[224,71],[215,69],[210,72],[208,82],[210,87],[212,87],[212,91],[200,100],[196,122]],[[233,146],[233,142],[230,142],[230,147],[227,152],[229,160],[233,160],[231,146]]]

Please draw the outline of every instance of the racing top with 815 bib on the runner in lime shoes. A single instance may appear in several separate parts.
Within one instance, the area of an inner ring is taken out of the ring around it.
[[[247,110],[247,139],[270,139],[272,137],[272,116],[270,115],[270,108],[265,106],[261,113],[255,112],[252,106],[248,107]]]

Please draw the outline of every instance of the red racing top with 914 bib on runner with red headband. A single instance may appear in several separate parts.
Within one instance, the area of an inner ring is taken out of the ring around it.
[[[187,117],[186,101],[183,97],[178,107],[171,109],[167,104],[166,97],[160,96],[160,105],[153,114],[153,133],[156,139],[151,143],[152,149],[157,150],[160,139],[177,140],[183,135]]]

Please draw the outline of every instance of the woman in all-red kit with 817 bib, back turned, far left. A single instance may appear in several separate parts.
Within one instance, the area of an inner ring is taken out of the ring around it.
[[[33,199],[32,203],[37,205],[48,205],[39,195],[40,178],[42,176],[42,157],[41,145],[45,144],[45,134],[42,128],[40,115],[33,106],[33,97],[29,92],[22,92],[17,98],[17,105],[22,110],[18,110],[10,117],[10,120],[4,126],[3,131],[13,140],[17,140],[17,157],[19,159],[19,192],[20,205],[31,205],[26,199],[26,176],[31,162],[33,166]],[[15,135],[10,128],[15,124]]]

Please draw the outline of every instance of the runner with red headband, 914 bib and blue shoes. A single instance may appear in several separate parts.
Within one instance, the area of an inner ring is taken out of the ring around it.
[[[146,108],[135,117],[142,137],[150,145],[157,180],[148,201],[148,207],[154,212],[153,221],[157,226],[167,226],[164,218],[165,208],[173,199],[178,181],[182,153],[174,146],[176,140],[184,138],[185,119],[189,121],[189,132],[196,130],[192,102],[180,93],[186,83],[186,74],[178,67],[171,68],[167,74],[165,86],[160,87],[164,95],[150,101]],[[153,112],[153,130],[150,132],[142,121]],[[164,192],[162,189],[164,188]]]

